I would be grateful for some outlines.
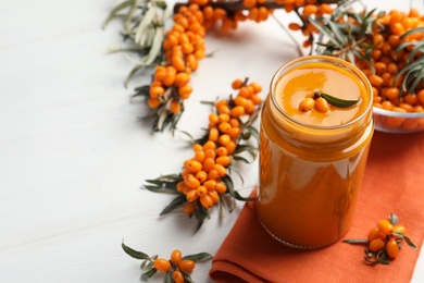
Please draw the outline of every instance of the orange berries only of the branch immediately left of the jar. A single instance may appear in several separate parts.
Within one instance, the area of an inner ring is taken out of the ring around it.
[[[236,89],[234,99],[222,99],[215,103],[216,112],[209,115],[208,140],[195,144],[195,157],[184,162],[183,181],[177,183],[177,192],[184,194],[187,204],[184,212],[191,214],[199,204],[211,208],[220,201],[220,195],[227,192],[223,179],[232,163],[242,132],[244,115],[251,115],[259,109],[262,87],[258,83],[248,84],[248,79],[235,79],[232,87]]]

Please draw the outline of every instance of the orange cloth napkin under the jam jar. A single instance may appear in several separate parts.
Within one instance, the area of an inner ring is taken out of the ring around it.
[[[410,282],[423,243],[423,205],[424,133],[375,132],[356,219],[344,238],[366,238],[378,220],[394,212],[419,250],[403,243],[399,257],[389,266],[367,266],[364,246],[341,241],[312,251],[291,249],[264,231],[254,202],[248,202],[217,250],[210,276],[232,283]]]

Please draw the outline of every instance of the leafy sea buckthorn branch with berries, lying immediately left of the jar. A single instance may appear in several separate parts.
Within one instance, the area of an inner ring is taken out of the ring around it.
[[[236,171],[235,160],[249,162],[241,152],[255,157],[258,148],[249,142],[254,139],[258,143],[258,131],[251,124],[262,104],[259,96],[262,87],[254,82],[249,83],[247,78],[235,79],[232,87],[237,95],[213,103],[208,131],[202,138],[194,142],[194,157],[184,162],[182,172],[146,180],[148,184],[145,188],[151,192],[177,195],[160,214],[184,206],[183,211],[198,220],[196,231],[214,205],[223,214],[233,210],[235,200],[254,199],[242,197],[234,188],[229,175],[233,170]]]

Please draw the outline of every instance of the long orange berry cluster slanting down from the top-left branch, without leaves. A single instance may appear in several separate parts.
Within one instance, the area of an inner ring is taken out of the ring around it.
[[[203,13],[198,4],[183,5],[174,14],[174,25],[165,35],[165,65],[158,65],[150,84],[148,106],[152,109],[167,104],[171,113],[182,111],[182,102],[192,88],[190,73],[204,58]]]

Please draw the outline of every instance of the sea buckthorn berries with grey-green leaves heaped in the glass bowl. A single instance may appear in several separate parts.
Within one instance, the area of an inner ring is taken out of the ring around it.
[[[424,112],[424,15],[340,7],[322,23],[317,52],[356,64],[367,76],[373,106],[395,112]],[[382,121],[383,122],[383,121]],[[417,121],[388,118],[388,127],[420,127]]]

